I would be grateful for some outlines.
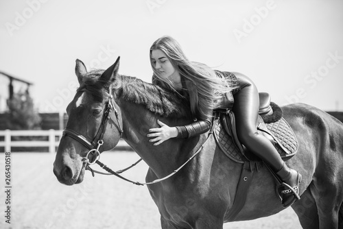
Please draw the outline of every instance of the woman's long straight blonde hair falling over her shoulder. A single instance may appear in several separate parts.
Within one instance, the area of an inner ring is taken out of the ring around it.
[[[231,91],[231,82],[219,71],[215,72],[206,64],[191,62],[183,53],[179,43],[170,36],[158,38],[150,48],[150,63],[154,71],[153,79],[157,78],[161,86],[173,91],[176,89],[171,80],[160,77],[152,62],[152,50],[160,49],[165,53],[180,76],[185,79],[191,112],[194,117],[202,120],[211,119],[205,111],[217,107],[224,93]],[[218,76],[217,76],[218,75]]]

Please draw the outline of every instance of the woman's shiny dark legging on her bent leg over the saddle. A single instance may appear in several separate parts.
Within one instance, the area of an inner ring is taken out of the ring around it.
[[[235,104],[233,112],[236,118],[236,128],[239,141],[252,153],[274,169],[283,167],[283,160],[272,143],[265,136],[257,133],[257,115],[259,112],[259,93],[248,77],[235,73],[239,90],[233,95]]]

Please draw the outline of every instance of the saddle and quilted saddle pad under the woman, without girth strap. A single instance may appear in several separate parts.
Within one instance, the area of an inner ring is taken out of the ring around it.
[[[289,160],[298,151],[298,141],[289,124],[282,117],[279,106],[270,101],[268,93],[259,93],[260,107],[257,131],[274,145],[283,160]],[[262,162],[242,145],[237,137],[235,114],[232,110],[215,110],[217,121],[214,127],[215,141],[222,152],[235,162]]]

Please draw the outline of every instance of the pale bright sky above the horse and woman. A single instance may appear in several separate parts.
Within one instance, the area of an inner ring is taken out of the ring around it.
[[[276,104],[343,111],[342,12],[340,0],[0,0],[0,71],[34,84],[39,112],[64,112],[77,58],[106,69],[120,56],[119,73],[151,82],[150,46],[169,35],[189,60],[244,73]]]

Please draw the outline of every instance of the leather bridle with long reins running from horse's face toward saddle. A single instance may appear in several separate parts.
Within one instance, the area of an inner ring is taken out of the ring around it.
[[[104,144],[104,134],[106,132],[106,126],[108,123],[108,119],[110,119],[110,112],[113,109],[115,112],[115,117],[117,119],[117,126],[119,129],[119,134],[120,137],[123,136],[123,129],[121,128],[120,122],[119,122],[119,113],[118,110],[115,108],[115,106],[113,105],[113,95],[111,94],[111,90],[109,88],[109,94],[110,97],[108,99],[108,102],[106,104],[106,110],[104,112],[104,116],[102,117],[102,123],[99,126],[99,129],[97,130],[97,134],[95,134],[95,137],[93,138],[92,141],[88,141],[88,139],[84,136],[82,136],[82,134],[79,134],[78,132],[75,132],[74,130],[71,129],[64,129],[63,130],[63,134],[62,136],[69,136],[71,138],[73,138],[75,141],[78,141],[79,143],[81,143],[82,145],[84,145],[84,147],[86,147],[87,149],[89,149],[88,153],[86,154],[86,156],[84,158],[82,158],[82,161],[86,164],[86,170],[91,171],[92,176],[94,177],[95,174],[94,173],[99,173],[102,175],[114,175],[117,176],[118,178],[121,178],[122,180],[126,180],[127,182],[130,182],[132,184],[137,184],[137,185],[145,185],[145,184],[156,184],[158,182],[161,182],[163,180],[166,180],[167,178],[170,178],[171,176],[173,176],[175,173],[177,173],[180,169],[182,169],[182,167],[184,167],[185,165],[187,165],[187,163],[192,160],[195,156],[197,156],[201,150],[202,147],[204,146],[204,144],[206,143],[207,140],[209,140],[209,136],[211,136],[211,134],[213,133],[213,130],[215,128],[215,123],[217,123],[218,121],[218,117],[215,117],[214,121],[213,121],[213,125],[212,128],[206,138],[206,140],[204,141],[204,143],[202,143],[202,145],[200,146],[200,148],[196,151],[196,153],[194,153],[190,158],[188,158],[188,160],[183,163],[180,167],[178,167],[178,169],[175,169],[173,172],[171,172],[169,175],[160,178],[160,179],[156,179],[153,180],[152,182],[134,182],[132,180],[129,180],[128,178],[124,178],[123,176],[119,175],[119,173],[122,173],[123,171],[126,171],[132,167],[134,167],[135,165],[137,165],[139,162],[141,162],[141,158],[135,162],[134,164],[130,165],[130,167],[127,167],[126,169],[121,169],[119,171],[113,171],[112,169],[110,169],[109,167],[107,167],[107,165],[104,165],[104,163],[100,162],[100,152],[99,149],[100,147]],[[98,139],[96,141],[96,139]],[[89,158],[89,156],[92,155],[92,158]],[[94,158],[95,156],[95,158]],[[102,173],[100,171],[96,171],[94,169],[92,169],[89,165],[94,165],[95,163],[97,163],[97,165],[99,165],[100,167],[102,167],[102,169],[108,171],[108,173]]]

